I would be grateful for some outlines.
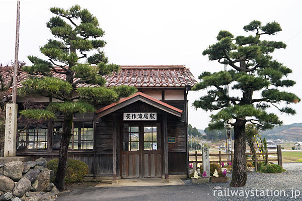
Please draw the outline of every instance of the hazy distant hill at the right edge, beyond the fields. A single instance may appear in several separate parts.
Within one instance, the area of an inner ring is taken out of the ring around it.
[[[302,123],[281,125],[261,132],[261,136],[269,139],[283,139],[286,141],[302,141]]]

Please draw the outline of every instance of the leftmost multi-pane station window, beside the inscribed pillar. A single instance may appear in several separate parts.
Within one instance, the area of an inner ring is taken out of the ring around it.
[[[29,125],[26,129],[18,127],[17,150],[46,150],[47,124]]]

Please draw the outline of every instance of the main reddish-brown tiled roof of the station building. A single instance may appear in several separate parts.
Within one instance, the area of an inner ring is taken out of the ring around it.
[[[185,87],[194,86],[197,81],[189,68],[185,65],[147,65],[147,66],[120,66],[119,72],[106,75],[105,86],[128,85],[135,87]],[[19,80],[24,80],[27,73],[21,72]],[[42,77],[42,75],[40,75]],[[52,72],[53,77],[65,79],[65,74]],[[74,79],[77,81],[78,79]],[[22,81],[18,82],[18,87]],[[77,87],[97,86],[96,84],[79,83]]]

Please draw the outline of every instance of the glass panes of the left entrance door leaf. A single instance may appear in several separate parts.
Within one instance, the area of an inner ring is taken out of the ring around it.
[[[137,151],[139,149],[139,128],[138,126],[128,126],[124,128],[122,136],[123,151]]]

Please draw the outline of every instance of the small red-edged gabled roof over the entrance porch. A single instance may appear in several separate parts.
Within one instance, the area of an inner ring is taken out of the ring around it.
[[[117,103],[110,104],[110,105],[108,105],[108,106],[106,106],[106,107],[104,107],[104,108],[101,108],[101,109],[97,110],[96,113],[98,114],[98,113],[104,112],[104,111],[106,111],[106,110],[108,110],[108,109],[110,109],[110,108],[112,108],[112,107],[114,107],[114,106],[116,106],[116,105],[119,105],[119,104],[121,104],[121,103],[123,103],[123,102],[125,102],[125,101],[127,101],[127,100],[129,100],[129,99],[131,99],[131,98],[134,98],[134,97],[136,97],[136,96],[139,96],[139,95],[140,95],[140,96],[143,96],[143,97],[145,97],[145,98],[147,98],[147,99],[149,99],[149,100],[152,100],[153,102],[156,102],[156,103],[158,103],[158,104],[160,104],[160,105],[162,105],[162,106],[164,106],[164,107],[166,107],[166,108],[169,108],[169,109],[171,109],[171,110],[174,110],[174,111],[176,111],[176,112],[178,112],[178,113],[182,113],[182,112],[183,112],[182,110],[180,110],[180,109],[178,109],[178,108],[175,108],[174,106],[171,106],[171,105],[169,105],[169,104],[166,104],[166,103],[162,102],[161,100],[158,100],[158,99],[156,99],[156,98],[154,98],[154,97],[151,97],[151,96],[149,96],[149,95],[147,95],[147,94],[145,94],[145,93],[136,92],[136,93],[134,93],[134,94],[132,94],[132,95],[130,95],[130,96],[128,96],[128,97],[125,97],[125,98],[120,99],[119,102],[117,102]],[[112,112],[113,112],[113,111],[112,111]]]

